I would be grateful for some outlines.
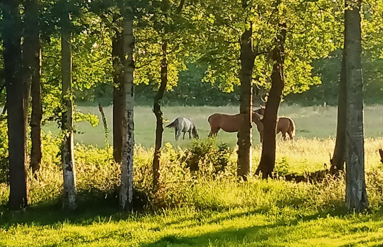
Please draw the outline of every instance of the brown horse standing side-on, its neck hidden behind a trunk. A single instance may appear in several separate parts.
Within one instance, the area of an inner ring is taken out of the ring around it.
[[[237,132],[243,123],[244,114],[228,115],[223,113],[215,113],[207,118],[210,124],[209,137],[217,135],[218,131],[222,129],[226,132]],[[256,123],[257,129],[260,132],[260,139],[262,142],[263,137],[263,124],[257,113],[252,114],[252,122]]]

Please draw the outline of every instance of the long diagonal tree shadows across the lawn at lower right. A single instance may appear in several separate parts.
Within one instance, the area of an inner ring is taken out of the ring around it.
[[[227,217],[221,217],[219,219],[207,221],[206,224],[217,224],[225,220],[232,220],[234,218],[246,217],[250,214],[257,214],[256,211],[249,211],[239,214],[232,214]],[[380,215],[383,213],[383,210],[376,212],[377,215],[372,217],[372,221],[379,221]],[[304,240],[305,236],[302,236],[301,230],[297,230],[295,227],[299,226],[302,223],[308,223],[312,220],[326,218],[327,216],[347,216],[350,215],[345,211],[344,208],[339,208],[334,211],[322,212],[312,215],[296,215],[292,220],[288,221],[278,221],[274,224],[265,224],[265,225],[252,225],[248,227],[238,228],[229,228],[219,231],[213,231],[208,233],[196,234],[192,236],[182,236],[181,234],[169,234],[160,238],[154,242],[142,243],[140,247],[162,247],[162,246],[284,246],[291,241]],[[243,219],[245,221],[246,219]],[[371,219],[365,220],[355,220],[355,222],[370,222]],[[198,224],[190,224],[185,226],[185,228],[191,228]],[[305,226],[300,226],[304,228]],[[297,231],[296,231],[297,230]],[[368,229],[367,229],[368,231]],[[295,240],[294,240],[295,239]],[[331,236],[329,236],[331,239]],[[315,239],[312,239],[315,241]],[[376,241],[376,239],[371,239],[371,241]],[[307,243],[307,242],[306,242]],[[368,240],[361,239],[357,243],[368,243]],[[354,246],[355,243],[348,243],[344,246]],[[383,246],[382,244],[375,244],[373,247]],[[343,246],[342,246],[343,247]]]

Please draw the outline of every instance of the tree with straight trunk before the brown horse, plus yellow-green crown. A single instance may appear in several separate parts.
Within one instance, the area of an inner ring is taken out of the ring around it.
[[[311,75],[312,60],[327,56],[338,44],[336,36],[333,40],[311,38],[313,35],[326,36],[338,32],[338,26],[333,25],[336,15],[323,11],[323,6],[330,6],[331,11],[336,8],[329,2],[225,0],[218,3],[205,0],[193,5],[197,12],[194,19],[200,20],[197,22],[202,29],[200,39],[195,40],[203,43],[200,45],[203,47],[201,57],[208,62],[204,80],[220,83],[225,91],[232,91],[233,84],[240,84],[242,88],[240,112],[246,113],[246,119],[238,133],[238,175],[243,176],[251,170],[251,125],[247,119],[251,115],[247,112],[251,109],[251,84],[257,83],[266,90],[271,88],[267,72],[272,67],[269,56],[274,47],[275,33],[278,32],[278,20],[283,20],[289,27],[285,51],[295,55],[286,56],[284,61],[286,87],[283,93],[302,92],[309,85],[319,83],[319,77]],[[331,21],[323,22],[323,17]],[[206,36],[209,38],[206,39]],[[247,42],[244,41],[246,39]],[[249,52],[243,52],[245,47]],[[245,71],[243,62],[246,57],[253,64],[251,66],[247,62]]]

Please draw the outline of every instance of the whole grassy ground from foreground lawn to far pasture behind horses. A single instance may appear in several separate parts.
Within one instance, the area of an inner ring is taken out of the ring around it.
[[[99,115],[94,107],[83,113]],[[111,127],[111,108],[105,113]],[[164,107],[164,117],[193,119],[199,140],[174,140],[165,129],[160,189],[151,189],[155,118],[150,107],[135,108],[136,148],[134,213],[116,209],[119,167],[104,147],[102,124],[76,123],[75,162],[78,209],[61,210],[62,172],[59,143],[43,139],[43,163],[37,179],[29,177],[30,204],[25,212],[6,210],[9,187],[0,183],[0,246],[383,246],[383,106],[365,108],[365,165],[370,209],[350,213],[344,207],[345,180],[326,177],[319,183],[252,177],[238,182],[236,134],[219,132],[206,139],[208,115],[236,113],[237,107]],[[323,170],[332,153],[336,108],[282,106],[280,116],[292,117],[296,141],[277,140],[278,173],[304,174]],[[101,118],[100,118],[101,119]],[[54,124],[44,127],[55,131]],[[254,128],[255,129],[255,128]],[[111,129],[109,130],[111,138]],[[228,143],[224,145],[223,143]],[[252,171],[261,154],[253,130]],[[190,171],[198,164],[198,171]]]

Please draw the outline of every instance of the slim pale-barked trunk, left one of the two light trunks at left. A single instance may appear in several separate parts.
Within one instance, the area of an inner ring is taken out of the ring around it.
[[[72,100],[72,52],[71,33],[63,28],[61,31],[61,72],[62,72],[62,113],[63,142],[61,146],[61,163],[63,166],[64,191],[63,209],[76,209],[76,172],[73,156],[73,100]]]

